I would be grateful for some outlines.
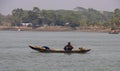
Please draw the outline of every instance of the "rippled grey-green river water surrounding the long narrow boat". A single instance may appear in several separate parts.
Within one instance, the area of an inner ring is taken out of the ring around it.
[[[28,47],[92,49],[86,54],[40,53]],[[119,71],[120,34],[0,31],[0,71]]]

